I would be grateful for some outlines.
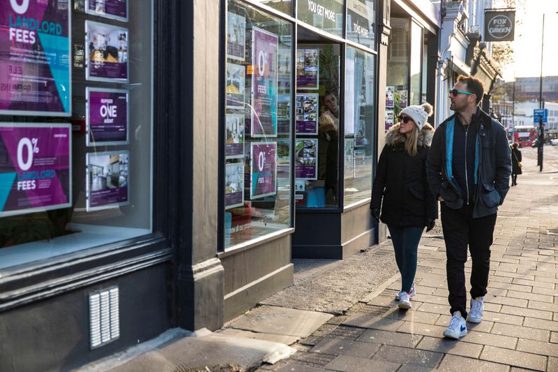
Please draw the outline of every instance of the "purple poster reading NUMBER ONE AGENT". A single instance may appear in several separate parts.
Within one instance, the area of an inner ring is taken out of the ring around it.
[[[128,91],[86,89],[86,144],[128,144]]]

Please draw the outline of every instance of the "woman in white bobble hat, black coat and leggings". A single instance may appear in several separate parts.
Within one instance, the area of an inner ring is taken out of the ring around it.
[[[372,186],[372,216],[389,228],[395,261],[401,273],[401,291],[395,297],[399,308],[412,308],[416,288],[418,242],[424,227],[432,230],[438,206],[428,190],[426,158],[434,128],[426,122],[432,106],[409,106],[402,110],[399,124],[386,134]],[[380,208],[382,214],[380,214]]]

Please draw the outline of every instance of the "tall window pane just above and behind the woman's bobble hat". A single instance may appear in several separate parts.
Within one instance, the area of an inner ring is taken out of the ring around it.
[[[409,78],[409,20],[391,18],[391,35],[388,45],[388,64],[386,73],[386,118],[387,131],[407,107]]]

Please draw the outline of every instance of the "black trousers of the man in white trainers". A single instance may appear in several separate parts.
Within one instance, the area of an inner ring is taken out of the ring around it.
[[[473,218],[473,204],[451,209],[441,203],[442,230],[446,241],[446,273],[448,279],[450,312],[460,311],[467,318],[467,290],[465,289],[465,262],[467,246],[471,252],[471,296],[486,295],[490,270],[490,245],[497,214]]]

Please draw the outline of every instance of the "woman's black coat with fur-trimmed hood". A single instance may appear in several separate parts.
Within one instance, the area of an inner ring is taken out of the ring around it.
[[[426,179],[426,158],[432,143],[434,128],[425,124],[418,133],[417,154],[405,150],[404,134],[399,124],[386,134],[372,185],[370,209],[379,209],[380,220],[395,226],[425,226],[429,219],[438,218],[438,205]]]

